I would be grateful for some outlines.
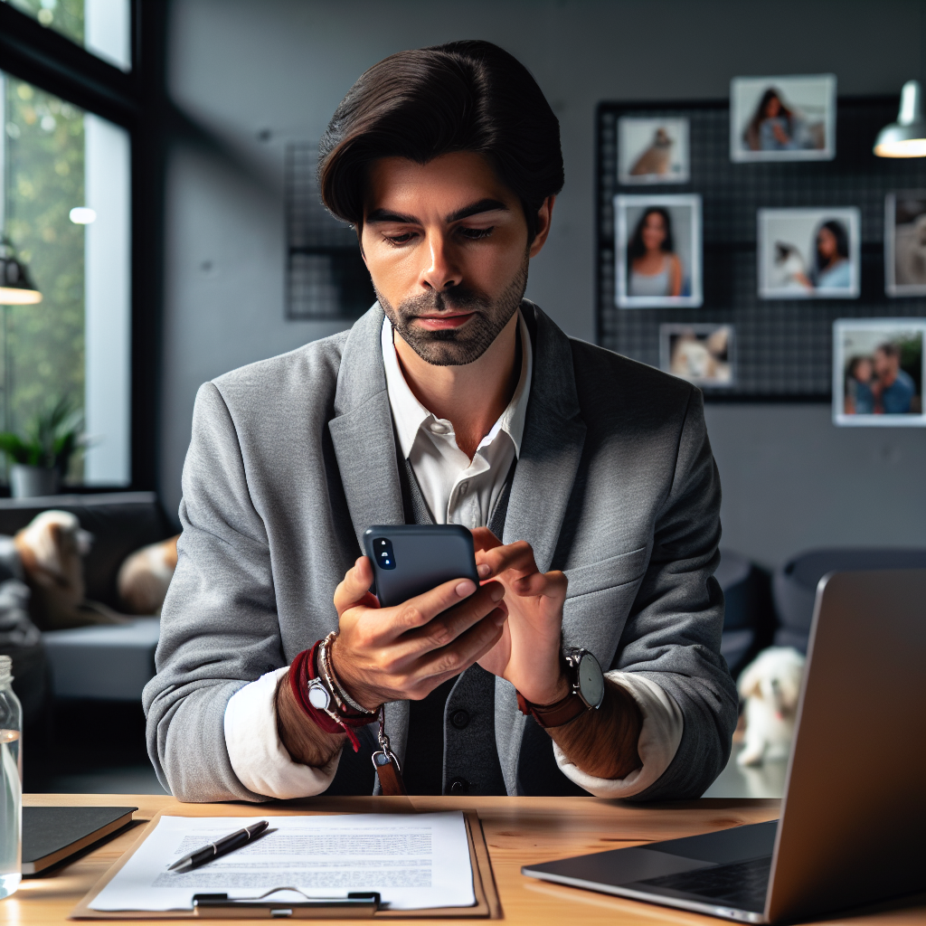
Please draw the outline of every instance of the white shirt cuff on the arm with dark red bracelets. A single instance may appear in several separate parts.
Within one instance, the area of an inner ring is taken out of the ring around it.
[[[232,694],[225,707],[225,748],[232,769],[256,795],[285,800],[320,795],[332,783],[339,752],[318,769],[294,762],[277,733],[274,694],[288,667],[261,675]]]

